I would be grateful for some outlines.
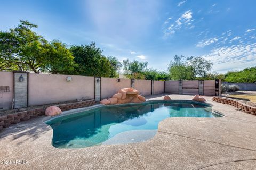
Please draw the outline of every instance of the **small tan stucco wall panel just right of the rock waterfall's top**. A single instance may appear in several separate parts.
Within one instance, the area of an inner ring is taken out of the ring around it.
[[[140,95],[151,95],[151,80],[135,80],[134,89],[140,92]]]

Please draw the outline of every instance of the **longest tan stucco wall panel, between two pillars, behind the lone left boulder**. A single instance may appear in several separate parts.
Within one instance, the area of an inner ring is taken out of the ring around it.
[[[42,105],[76,99],[94,99],[94,77],[29,74],[28,104]]]

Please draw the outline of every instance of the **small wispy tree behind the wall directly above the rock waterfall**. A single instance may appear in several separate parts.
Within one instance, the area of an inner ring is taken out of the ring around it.
[[[129,61],[123,60],[123,69],[126,78],[145,79],[145,71],[147,70],[148,62],[139,62],[138,60]]]

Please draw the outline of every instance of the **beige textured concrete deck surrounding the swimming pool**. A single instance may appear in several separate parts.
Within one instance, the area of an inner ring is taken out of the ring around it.
[[[161,99],[166,94],[147,96]],[[190,95],[170,95],[191,99]],[[58,149],[44,116],[0,132],[0,169],[253,169],[256,167],[256,116],[211,101],[225,117],[172,117],[148,141]],[[25,164],[3,165],[24,160]]]

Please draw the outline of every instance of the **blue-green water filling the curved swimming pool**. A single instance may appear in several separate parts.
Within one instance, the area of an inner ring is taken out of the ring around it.
[[[155,130],[168,117],[220,117],[208,105],[194,103],[148,103],[103,106],[47,121],[53,129],[52,145],[82,148],[100,144],[131,130]]]

